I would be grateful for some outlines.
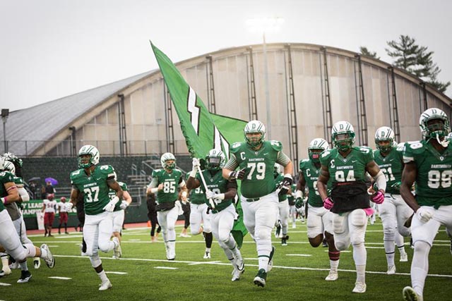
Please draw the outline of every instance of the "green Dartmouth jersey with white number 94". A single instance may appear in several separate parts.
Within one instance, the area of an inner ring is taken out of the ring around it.
[[[352,147],[344,158],[338,149],[328,149],[320,155],[320,163],[328,167],[331,185],[345,182],[366,182],[366,166],[374,160],[374,152],[369,147]]]

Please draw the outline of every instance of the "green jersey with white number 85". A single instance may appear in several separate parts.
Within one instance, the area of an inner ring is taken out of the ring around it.
[[[155,169],[152,174],[153,178],[157,178],[157,185],[163,183],[163,190],[157,192],[157,203],[174,202],[177,200],[177,187],[182,182],[182,171],[174,168],[171,173],[167,173],[165,169]]]

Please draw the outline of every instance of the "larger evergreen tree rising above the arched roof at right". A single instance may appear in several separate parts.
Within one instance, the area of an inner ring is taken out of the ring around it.
[[[391,49],[385,49],[388,56],[395,61],[393,65],[402,68],[412,75],[421,78],[440,92],[445,92],[451,82],[440,82],[438,75],[441,69],[433,62],[434,51],[416,44],[416,40],[408,35],[400,35],[398,42],[387,42]]]

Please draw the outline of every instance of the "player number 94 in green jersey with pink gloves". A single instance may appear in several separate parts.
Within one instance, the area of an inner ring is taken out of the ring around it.
[[[357,279],[353,293],[366,292],[367,251],[364,236],[370,208],[365,174],[368,172],[379,188],[371,196],[373,202],[381,204],[386,190],[386,178],[374,161],[374,152],[369,147],[355,147],[355,130],[347,121],[333,125],[331,140],[334,148],[321,153],[321,171],[317,189],[323,207],[333,212],[333,235],[336,249],[347,250],[353,246]],[[326,185],[331,179],[331,195]]]

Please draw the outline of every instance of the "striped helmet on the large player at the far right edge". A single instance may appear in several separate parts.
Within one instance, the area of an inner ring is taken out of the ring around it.
[[[433,120],[442,122],[431,123],[430,121]],[[427,109],[421,114],[419,118],[419,127],[421,129],[422,137],[424,137],[425,140],[436,138],[436,140],[439,141],[441,140],[440,138],[447,137],[451,130],[446,113],[437,108]],[[444,139],[444,141],[447,142],[448,140]]]

